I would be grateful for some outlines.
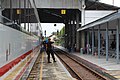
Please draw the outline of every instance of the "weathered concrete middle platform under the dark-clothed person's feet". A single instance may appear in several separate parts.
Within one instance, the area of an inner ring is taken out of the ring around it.
[[[42,69],[42,79],[41,80],[76,80],[74,79],[60,60],[55,56],[56,62],[47,62],[47,55],[44,56],[43,69]]]

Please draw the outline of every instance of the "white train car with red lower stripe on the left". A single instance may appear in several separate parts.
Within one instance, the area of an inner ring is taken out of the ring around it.
[[[8,72],[38,46],[37,36],[0,23],[0,76]]]

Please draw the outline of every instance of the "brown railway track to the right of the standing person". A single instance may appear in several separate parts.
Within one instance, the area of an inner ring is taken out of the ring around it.
[[[75,56],[67,55],[60,50],[56,51],[56,55],[67,66],[68,71],[74,74],[73,77],[78,80],[111,80],[80,62]]]

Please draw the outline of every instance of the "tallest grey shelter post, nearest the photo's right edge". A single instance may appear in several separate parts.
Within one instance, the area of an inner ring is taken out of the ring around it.
[[[116,56],[117,56],[117,64],[119,63],[119,19],[117,19],[116,26]]]

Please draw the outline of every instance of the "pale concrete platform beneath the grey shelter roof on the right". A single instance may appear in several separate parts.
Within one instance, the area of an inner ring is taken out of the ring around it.
[[[56,47],[64,51],[67,51],[64,47],[61,46]],[[113,76],[117,80],[120,80],[120,64],[116,63],[115,58],[109,57],[108,61],[106,61],[106,56],[101,56],[100,58],[98,58],[97,55],[81,54],[80,52],[70,52],[69,54],[76,55],[86,60],[91,65],[94,65],[95,67],[99,68],[102,72],[105,72]]]

